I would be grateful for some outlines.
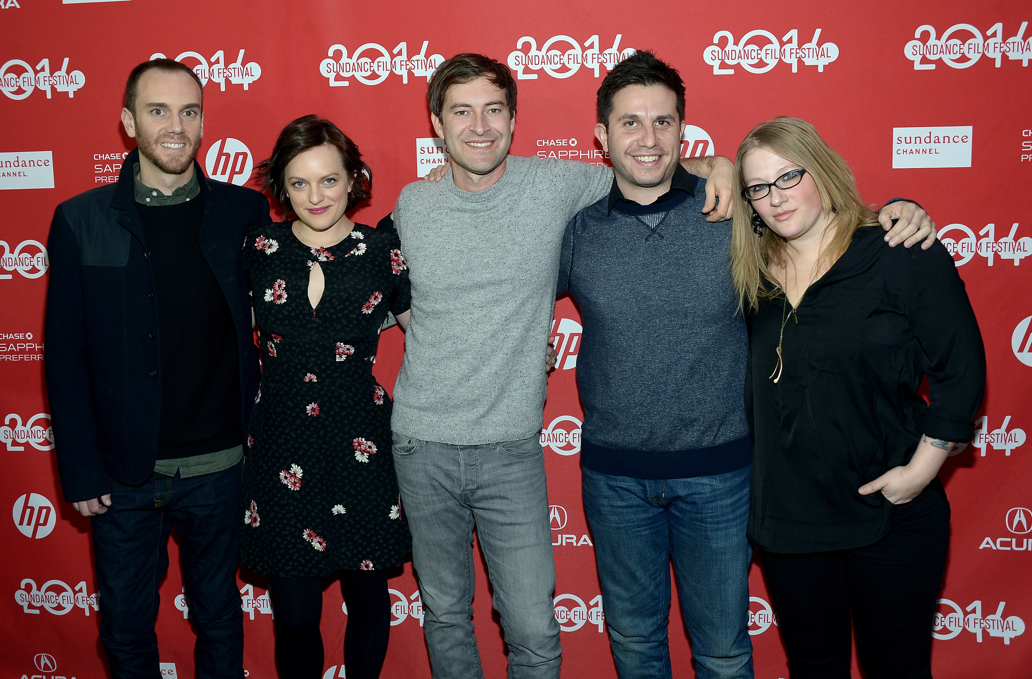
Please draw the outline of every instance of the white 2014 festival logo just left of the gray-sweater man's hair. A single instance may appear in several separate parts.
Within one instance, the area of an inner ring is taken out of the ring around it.
[[[348,48],[337,43],[330,45],[326,53],[328,59],[319,64],[319,73],[329,80],[331,88],[350,86],[348,78],[351,77],[362,84],[380,84],[391,73],[400,75],[401,82],[408,83],[410,72],[413,77],[425,77],[429,82],[433,71],[445,61],[441,55],[426,54],[429,44],[429,40],[423,40],[419,54],[409,57],[409,43],[398,42],[391,53],[396,56],[391,59],[387,48],[376,42],[359,45],[350,57]],[[340,57],[336,57],[338,54]]]

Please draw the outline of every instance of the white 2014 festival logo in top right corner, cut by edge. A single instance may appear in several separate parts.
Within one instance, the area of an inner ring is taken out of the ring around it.
[[[1028,22],[1022,22],[1018,34],[1004,40],[1002,22],[993,24],[989,29],[986,35],[993,36],[989,39],[983,38],[981,32],[970,24],[955,24],[946,29],[941,38],[936,39],[935,27],[925,24],[913,32],[915,39],[906,43],[903,54],[913,62],[915,71],[933,70],[936,59],[941,59],[950,68],[970,68],[983,55],[994,60],[997,68],[1003,62],[1003,55],[1012,61],[1021,60],[1022,66],[1028,66],[1029,59],[1032,59],[1032,40],[1025,38],[1028,25]],[[922,42],[922,36],[926,33],[928,39]]]

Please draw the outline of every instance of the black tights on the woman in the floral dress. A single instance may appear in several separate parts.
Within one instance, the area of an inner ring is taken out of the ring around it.
[[[323,671],[322,581],[269,578],[276,613],[276,665],[281,679],[320,679]],[[390,637],[390,595],[384,571],[341,571],[348,605],[344,657],[348,679],[377,679]]]

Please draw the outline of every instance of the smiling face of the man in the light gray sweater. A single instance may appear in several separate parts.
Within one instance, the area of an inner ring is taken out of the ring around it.
[[[486,77],[450,87],[441,117],[433,115],[432,122],[456,169],[476,175],[490,174],[505,162],[516,127],[505,90]]]

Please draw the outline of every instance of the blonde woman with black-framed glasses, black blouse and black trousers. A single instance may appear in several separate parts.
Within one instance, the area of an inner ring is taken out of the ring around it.
[[[985,350],[945,247],[886,247],[848,166],[777,117],[738,149],[759,546],[792,677],[931,677],[949,539],[937,477],[973,438]],[[928,402],[918,388],[928,378]],[[851,624],[850,624],[851,620]]]

